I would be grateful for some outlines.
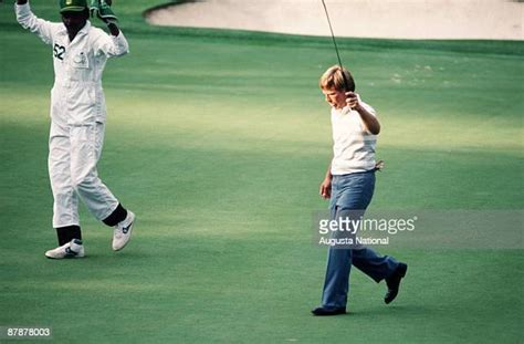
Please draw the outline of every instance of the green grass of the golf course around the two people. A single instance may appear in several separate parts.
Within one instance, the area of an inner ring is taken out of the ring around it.
[[[56,19],[55,9],[33,1]],[[50,49],[0,11],[0,326],[77,343],[518,343],[522,250],[381,249],[399,299],[352,274],[349,310],[316,319],[311,244],[331,155],[328,39],[151,28],[119,2],[132,54],[109,61],[99,173],[138,215],[133,241],[82,209],[88,258],[49,261]],[[98,23],[96,23],[98,24]],[[126,30],[127,29],[127,30]],[[522,210],[522,42],[340,40],[381,116],[373,209]]]

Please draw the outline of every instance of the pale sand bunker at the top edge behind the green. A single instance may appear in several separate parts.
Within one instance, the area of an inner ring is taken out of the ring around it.
[[[523,40],[524,2],[325,0],[337,37]],[[329,35],[321,0],[205,0],[147,12],[156,25]]]

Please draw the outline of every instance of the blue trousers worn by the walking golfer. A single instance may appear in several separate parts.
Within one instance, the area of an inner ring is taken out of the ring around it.
[[[375,171],[333,176],[329,201],[331,218],[364,215],[371,201],[374,189]],[[368,248],[331,247],[322,295],[324,307],[346,306],[352,264],[377,283],[389,277],[398,267],[398,262],[392,257],[381,257]]]

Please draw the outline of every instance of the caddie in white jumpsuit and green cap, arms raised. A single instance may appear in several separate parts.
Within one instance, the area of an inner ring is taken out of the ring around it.
[[[126,210],[98,177],[106,121],[102,73],[108,58],[128,52],[127,40],[117,25],[111,1],[60,0],[61,23],[36,18],[28,0],[17,0],[17,20],[52,46],[54,85],[51,90],[49,175],[53,191],[53,227],[59,247],[48,258],[85,256],[78,218],[82,199],[96,219],[113,231],[113,250],[130,239],[135,215]],[[92,27],[98,17],[111,35]]]

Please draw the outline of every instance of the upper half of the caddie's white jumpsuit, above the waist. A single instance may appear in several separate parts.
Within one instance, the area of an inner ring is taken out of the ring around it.
[[[54,86],[51,91],[51,117],[70,125],[105,122],[102,73],[107,58],[128,52],[124,34],[113,37],[87,21],[70,42],[63,23],[35,17],[29,3],[14,4],[18,22],[52,45]]]

